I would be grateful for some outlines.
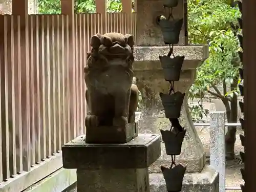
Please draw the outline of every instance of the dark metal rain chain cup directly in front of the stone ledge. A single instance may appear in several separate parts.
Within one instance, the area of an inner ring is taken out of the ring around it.
[[[159,56],[163,74],[166,81],[178,81],[180,80],[180,70],[183,65],[185,56],[176,56],[170,58],[168,56]]]

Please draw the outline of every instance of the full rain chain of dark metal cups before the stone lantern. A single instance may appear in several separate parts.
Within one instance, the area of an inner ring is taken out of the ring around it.
[[[173,9],[177,7],[178,0],[165,0],[164,10],[167,17],[159,17],[158,25],[161,28],[164,43],[169,46],[167,55],[159,56],[163,74],[166,81],[170,83],[168,93],[160,93],[160,98],[164,107],[165,117],[169,119],[170,130],[160,130],[162,140],[165,144],[165,151],[170,155],[172,162],[169,167],[161,166],[161,170],[165,179],[168,192],[179,192],[182,189],[182,181],[184,178],[186,167],[176,164],[175,158],[181,153],[181,146],[186,134],[186,130],[179,123],[181,115],[181,107],[185,97],[185,93],[175,91],[175,81],[180,80],[180,72],[185,56],[174,54],[174,45],[178,44],[182,19],[175,19]]]

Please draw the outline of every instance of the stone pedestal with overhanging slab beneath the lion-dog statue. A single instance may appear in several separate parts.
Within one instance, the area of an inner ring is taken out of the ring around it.
[[[160,155],[157,134],[124,144],[87,144],[80,136],[62,147],[63,167],[77,169],[77,192],[149,192],[148,166]]]

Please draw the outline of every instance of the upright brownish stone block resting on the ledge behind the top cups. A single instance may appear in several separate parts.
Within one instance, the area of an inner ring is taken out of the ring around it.
[[[137,0],[137,45],[162,46],[164,45],[160,27],[157,25],[157,17],[167,17],[168,8],[164,9],[163,0]],[[184,0],[179,0],[178,6],[173,9],[175,19],[184,17]],[[187,27],[183,25],[180,32],[179,45],[187,44]]]

